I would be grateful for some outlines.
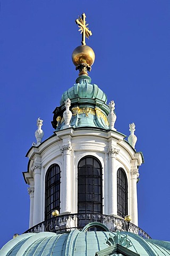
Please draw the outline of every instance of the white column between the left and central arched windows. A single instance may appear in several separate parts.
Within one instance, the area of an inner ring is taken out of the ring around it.
[[[63,155],[63,179],[62,179],[62,213],[71,212],[71,144],[61,148]]]

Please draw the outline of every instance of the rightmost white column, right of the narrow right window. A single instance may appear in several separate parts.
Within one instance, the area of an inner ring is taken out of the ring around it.
[[[138,169],[131,170],[131,193],[132,193],[132,223],[138,226],[138,198],[137,198],[137,178]]]

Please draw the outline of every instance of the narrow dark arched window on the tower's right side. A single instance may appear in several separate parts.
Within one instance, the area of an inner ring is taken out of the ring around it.
[[[117,215],[128,215],[128,180],[122,168],[117,171]]]

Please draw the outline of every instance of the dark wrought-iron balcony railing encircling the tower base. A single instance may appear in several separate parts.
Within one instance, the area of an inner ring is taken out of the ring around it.
[[[40,222],[36,226],[28,229],[24,233],[39,233],[49,231],[54,233],[69,232],[73,229],[82,230],[90,222],[103,223],[110,231],[128,231],[137,234],[143,238],[151,238],[141,228],[124,219],[104,214],[67,214],[53,217],[51,219]],[[90,230],[89,230],[90,231]]]

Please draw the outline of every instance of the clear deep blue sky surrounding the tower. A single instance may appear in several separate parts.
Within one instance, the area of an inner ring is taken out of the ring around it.
[[[117,131],[136,125],[145,164],[138,183],[139,226],[169,241],[169,0],[1,1],[1,239],[28,229],[29,195],[22,172],[35,141],[44,139],[62,93],[78,77],[71,60],[81,36],[74,20],[87,15],[96,53],[92,83],[115,101]]]

